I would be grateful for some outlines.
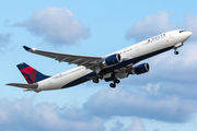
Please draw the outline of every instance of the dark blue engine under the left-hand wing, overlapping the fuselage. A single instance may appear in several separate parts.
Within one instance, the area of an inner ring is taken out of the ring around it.
[[[119,53],[112,55],[103,61],[104,66],[114,66],[121,62],[121,56]]]

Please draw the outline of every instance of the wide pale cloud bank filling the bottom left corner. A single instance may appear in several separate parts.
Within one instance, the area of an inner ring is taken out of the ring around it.
[[[58,107],[56,104],[33,99],[0,99],[0,130],[8,131],[102,131],[104,120],[78,107]]]

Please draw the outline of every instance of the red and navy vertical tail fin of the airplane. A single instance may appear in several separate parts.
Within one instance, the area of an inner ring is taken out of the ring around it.
[[[39,82],[42,80],[49,78],[36,71],[35,69],[33,69],[26,63],[20,63],[18,64],[18,68],[28,84],[33,84],[33,83],[36,83],[36,82]]]

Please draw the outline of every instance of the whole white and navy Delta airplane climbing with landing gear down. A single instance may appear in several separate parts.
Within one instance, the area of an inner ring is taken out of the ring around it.
[[[177,48],[192,36],[192,32],[176,29],[162,33],[138,44],[131,45],[121,50],[115,51],[104,57],[77,56],[37,50],[23,46],[28,52],[53,58],[59,62],[73,63],[78,67],[59,73],[54,76],[45,75],[26,63],[18,64],[19,70],[28,84],[9,83],[7,85],[24,88],[23,91],[60,90],[71,87],[86,81],[99,83],[101,80],[112,82],[111,87],[116,87],[120,79],[128,78],[129,74],[142,74],[149,72],[149,63],[137,64],[139,61],[157,56],[167,50],[174,49],[178,55]]]

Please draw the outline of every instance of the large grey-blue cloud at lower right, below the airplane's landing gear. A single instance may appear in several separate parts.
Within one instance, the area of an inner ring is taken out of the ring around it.
[[[160,90],[159,93],[151,94],[146,90],[137,88],[102,90],[91,96],[84,104],[84,108],[103,118],[136,116],[166,122],[186,122],[196,111],[197,103],[193,99],[184,99],[177,94],[169,95],[165,92],[159,92]]]

